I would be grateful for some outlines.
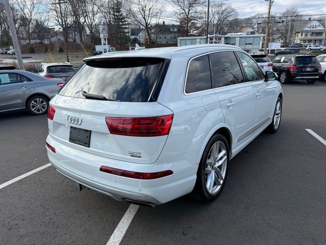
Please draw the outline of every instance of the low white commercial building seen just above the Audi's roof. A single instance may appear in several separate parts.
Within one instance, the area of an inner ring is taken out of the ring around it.
[[[242,50],[248,50],[249,53],[257,53],[262,47],[264,34],[243,35],[239,33],[228,33],[227,35],[208,35],[208,43],[221,43],[239,46]],[[206,37],[179,37],[178,46],[204,44]]]

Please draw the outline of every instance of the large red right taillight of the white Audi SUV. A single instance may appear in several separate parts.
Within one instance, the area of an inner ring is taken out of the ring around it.
[[[127,136],[162,136],[171,129],[173,114],[155,117],[105,117],[111,134]]]

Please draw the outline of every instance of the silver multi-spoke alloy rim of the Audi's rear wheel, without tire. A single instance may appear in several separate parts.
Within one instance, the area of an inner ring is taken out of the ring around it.
[[[228,155],[222,141],[215,142],[208,154],[205,166],[205,186],[210,194],[217,193],[225,179]]]

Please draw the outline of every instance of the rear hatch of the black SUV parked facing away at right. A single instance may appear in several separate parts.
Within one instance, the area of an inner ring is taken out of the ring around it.
[[[315,56],[297,56],[295,66],[297,76],[319,76],[320,63]]]

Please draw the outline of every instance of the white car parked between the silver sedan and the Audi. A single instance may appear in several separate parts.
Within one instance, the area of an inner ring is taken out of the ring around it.
[[[41,63],[37,67],[37,73],[46,78],[61,78],[68,80],[76,69],[68,62]]]

